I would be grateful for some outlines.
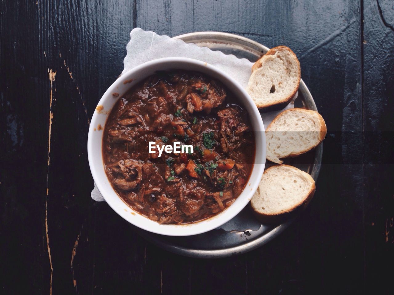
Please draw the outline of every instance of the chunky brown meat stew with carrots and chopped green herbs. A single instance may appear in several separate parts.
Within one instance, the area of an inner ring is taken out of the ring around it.
[[[148,153],[180,142],[193,153]],[[240,101],[198,72],[156,72],[124,94],[104,128],[103,159],[113,188],[158,223],[190,223],[225,210],[241,194],[255,136]]]

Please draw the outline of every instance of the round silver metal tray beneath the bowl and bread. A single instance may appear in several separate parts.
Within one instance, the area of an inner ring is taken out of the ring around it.
[[[249,59],[251,62],[255,62],[269,50],[266,46],[251,39],[221,32],[189,33],[173,37],[173,39],[195,43],[211,50],[220,50],[225,54]],[[317,111],[312,95],[302,79],[294,105]],[[284,163],[306,171],[316,181],[322,154],[323,144],[320,144],[316,149],[300,157],[286,159]],[[266,225],[256,220],[251,214],[251,208],[246,206],[236,217],[221,227],[195,236],[162,236],[136,229],[147,240],[173,253],[197,258],[219,258],[245,253],[264,245],[286,229],[295,218],[297,216],[276,225]]]

